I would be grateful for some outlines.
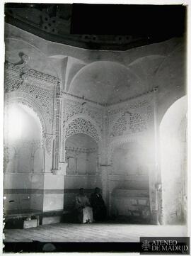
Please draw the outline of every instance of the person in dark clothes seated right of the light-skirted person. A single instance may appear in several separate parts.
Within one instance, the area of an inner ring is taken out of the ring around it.
[[[104,221],[107,211],[98,187],[91,194],[91,206],[93,207],[93,219],[95,221]]]

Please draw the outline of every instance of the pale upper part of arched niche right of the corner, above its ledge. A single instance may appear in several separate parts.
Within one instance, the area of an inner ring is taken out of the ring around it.
[[[127,142],[114,148],[111,157],[112,173],[118,175],[147,175],[146,150],[137,142]]]

